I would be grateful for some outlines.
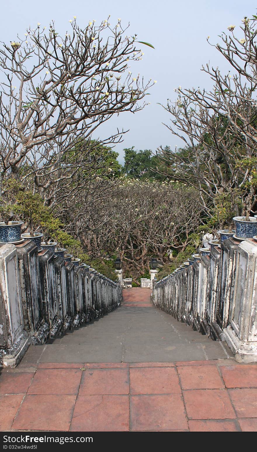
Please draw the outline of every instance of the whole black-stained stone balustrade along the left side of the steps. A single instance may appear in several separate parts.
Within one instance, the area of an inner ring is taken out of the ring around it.
[[[0,245],[0,366],[120,305],[121,285],[29,240]]]

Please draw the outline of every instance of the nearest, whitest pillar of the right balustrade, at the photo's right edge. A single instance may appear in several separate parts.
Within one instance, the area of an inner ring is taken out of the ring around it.
[[[238,245],[233,301],[223,339],[239,363],[257,362],[257,243]]]

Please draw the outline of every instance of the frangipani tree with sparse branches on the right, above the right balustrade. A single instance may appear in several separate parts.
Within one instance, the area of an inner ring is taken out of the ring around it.
[[[223,194],[237,198],[235,209],[246,217],[256,210],[257,16],[242,22],[239,33],[230,25],[229,35],[222,33],[221,43],[214,45],[231,70],[223,75],[219,68],[203,66],[213,88],[180,86],[175,90],[176,102],[164,106],[171,114],[167,127],[185,148],[173,153],[160,149],[160,162],[169,167],[171,179],[199,191],[209,217],[215,199]]]

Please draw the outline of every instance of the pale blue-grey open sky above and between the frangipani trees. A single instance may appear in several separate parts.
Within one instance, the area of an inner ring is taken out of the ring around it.
[[[159,146],[183,146],[163,125],[169,123],[171,116],[160,104],[167,104],[167,99],[175,101],[174,89],[178,86],[210,89],[211,81],[201,66],[210,61],[224,72],[228,66],[224,57],[208,44],[207,36],[209,42],[216,44],[218,35],[228,33],[230,24],[239,30],[243,17],[252,17],[256,12],[257,4],[250,0],[1,0],[0,41],[15,41],[17,34],[23,36],[26,28],[36,28],[38,22],[48,27],[54,20],[62,35],[73,16],[83,28],[92,19],[100,24],[110,14],[111,25],[120,18],[123,27],[130,24],[128,35],[137,33],[138,41],[150,42],[155,49],[141,45],[143,59],[135,67],[144,80],[157,80],[147,96],[150,105],[135,114],[126,112],[111,118],[95,136],[105,139],[117,127],[129,129],[124,141],[114,147],[123,163],[123,149],[131,146],[152,151]]]

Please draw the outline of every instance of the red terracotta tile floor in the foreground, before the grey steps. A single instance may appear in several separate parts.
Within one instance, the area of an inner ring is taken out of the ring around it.
[[[4,369],[0,430],[257,431],[257,364],[221,359]]]

